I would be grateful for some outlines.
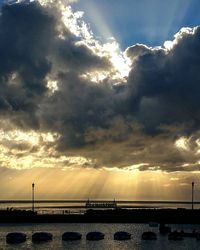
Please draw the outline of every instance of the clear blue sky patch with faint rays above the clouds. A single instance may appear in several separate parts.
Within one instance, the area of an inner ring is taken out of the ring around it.
[[[199,25],[198,0],[84,0],[73,7],[101,39],[115,37],[122,49],[135,43],[160,46],[182,27]]]

